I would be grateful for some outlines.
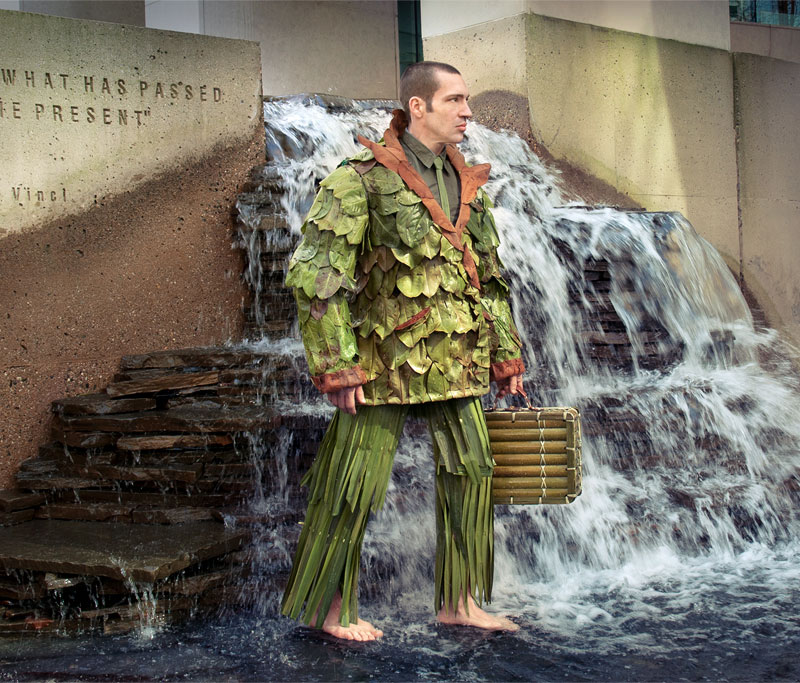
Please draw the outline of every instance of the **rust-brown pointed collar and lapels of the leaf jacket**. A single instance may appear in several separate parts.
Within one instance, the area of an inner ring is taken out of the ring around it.
[[[433,221],[442,229],[442,234],[447,238],[456,249],[463,254],[464,270],[467,271],[470,283],[476,289],[480,289],[480,280],[478,279],[478,271],[475,268],[475,259],[469,249],[465,248],[461,240],[461,235],[464,233],[464,227],[467,225],[470,216],[470,202],[475,199],[478,194],[478,188],[484,185],[489,179],[490,164],[478,164],[476,166],[467,166],[464,161],[464,155],[458,151],[455,145],[447,145],[447,156],[453,168],[458,173],[461,179],[461,206],[458,211],[458,219],[456,224],[450,222],[450,218],[445,215],[442,207],[434,199],[430,188],[414,170],[414,167],[406,158],[406,153],[400,144],[400,136],[406,128],[405,116],[402,115],[402,110],[395,110],[394,116],[389,128],[383,134],[384,145],[379,145],[377,142],[367,140],[362,135],[358,136],[358,141],[367,147],[375,155],[375,160],[385,166],[390,171],[394,171],[399,175],[403,182],[408,185],[411,191],[416,194],[428,212]]]

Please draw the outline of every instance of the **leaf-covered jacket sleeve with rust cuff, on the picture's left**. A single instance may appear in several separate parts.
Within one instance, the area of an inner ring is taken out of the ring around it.
[[[314,385],[323,393],[366,382],[349,299],[356,291],[356,261],[369,217],[364,186],[349,166],[322,181],[289,261],[300,334]]]

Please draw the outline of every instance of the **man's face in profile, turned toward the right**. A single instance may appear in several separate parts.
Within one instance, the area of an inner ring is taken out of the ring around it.
[[[467,120],[472,116],[472,111],[467,104],[469,90],[464,79],[459,74],[444,71],[437,73],[439,88],[431,100],[431,107],[426,108],[423,103],[422,117],[419,119],[420,135],[416,137],[431,146],[444,146],[448,143],[457,144],[464,139]]]

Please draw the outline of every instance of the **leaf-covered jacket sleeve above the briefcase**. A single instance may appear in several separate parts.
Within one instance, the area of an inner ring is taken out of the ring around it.
[[[500,238],[491,212],[492,203],[482,190],[479,197],[483,210],[476,213],[472,226],[468,227],[480,259],[481,303],[489,321],[489,374],[492,380],[499,381],[522,374],[525,364],[522,362],[522,340],[509,305],[508,284],[501,273],[503,264],[497,254]]]

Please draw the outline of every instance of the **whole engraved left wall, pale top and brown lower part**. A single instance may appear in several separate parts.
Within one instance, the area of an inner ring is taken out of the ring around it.
[[[123,354],[241,334],[231,212],[264,148],[253,43],[0,12],[0,69],[3,488]]]

